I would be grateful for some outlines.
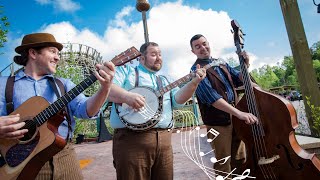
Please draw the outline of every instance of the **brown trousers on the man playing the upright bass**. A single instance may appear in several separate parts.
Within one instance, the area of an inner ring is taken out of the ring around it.
[[[217,162],[213,165],[217,175],[226,176],[231,172],[231,168],[237,168],[246,158],[245,144],[240,141],[233,132],[232,124],[227,126],[207,126],[207,131],[211,128],[220,134],[211,142],[217,160],[231,156],[224,164]],[[214,135],[208,133],[208,139],[213,139]],[[231,167],[231,165],[233,167]]]

